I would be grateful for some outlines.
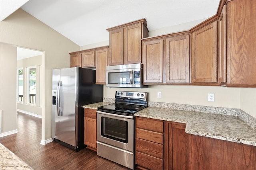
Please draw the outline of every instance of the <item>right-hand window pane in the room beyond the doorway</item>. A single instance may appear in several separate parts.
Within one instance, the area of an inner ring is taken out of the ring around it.
[[[29,68],[29,99],[30,104],[36,104],[36,68]]]

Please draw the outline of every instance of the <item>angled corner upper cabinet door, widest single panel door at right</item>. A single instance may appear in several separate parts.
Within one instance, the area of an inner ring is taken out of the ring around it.
[[[192,33],[191,82],[217,82],[217,21]]]

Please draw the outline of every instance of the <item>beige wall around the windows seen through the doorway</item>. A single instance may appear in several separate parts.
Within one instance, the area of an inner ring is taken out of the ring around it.
[[[27,67],[30,66],[36,66],[36,105],[28,104],[27,102],[27,87],[28,87],[28,81],[26,79],[27,75]],[[24,77],[24,86],[23,86],[23,101],[17,102],[17,109],[29,113],[33,113],[36,115],[42,116],[42,107],[40,102],[42,101],[42,98],[40,98],[40,94],[42,91],[40,90],[40,67],[42,67],[42,55],[36,56],[36,57],[30,57],[22,60],[17,61],[17,68],[23,68],[23,77]],[[38,95],[39,94],[39,95]]]

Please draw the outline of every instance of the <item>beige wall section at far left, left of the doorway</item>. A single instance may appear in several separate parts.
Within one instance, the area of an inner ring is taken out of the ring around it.
[[[16,57],[16,47],[0,43],[2,133],[16,131]]]

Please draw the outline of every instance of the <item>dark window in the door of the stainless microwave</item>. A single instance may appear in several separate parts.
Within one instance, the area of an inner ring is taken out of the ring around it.
[[[128,72],[109,72],[108,84],[131,84],[130,71]]]

